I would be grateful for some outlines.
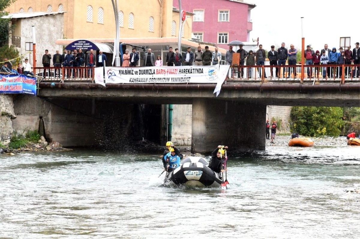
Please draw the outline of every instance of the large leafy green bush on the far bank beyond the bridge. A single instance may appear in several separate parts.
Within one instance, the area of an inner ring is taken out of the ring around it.
[[[343,111],[340,107],[292,107],[292,132],[311,137],[340,135],[343,126]]]

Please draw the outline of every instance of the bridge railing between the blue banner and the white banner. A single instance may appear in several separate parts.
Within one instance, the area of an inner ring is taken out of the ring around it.
[[[33,73],[43,81],[94,80],[94,67],[35,67]]]

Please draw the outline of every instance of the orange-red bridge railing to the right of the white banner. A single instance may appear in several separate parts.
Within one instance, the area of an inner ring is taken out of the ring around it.
[[[265,74],[264,74],[265,72]],[[360,65],[304,65],[303,80],[360,80]],[[301,80],[301,65],[231,65],[228,80]]]

